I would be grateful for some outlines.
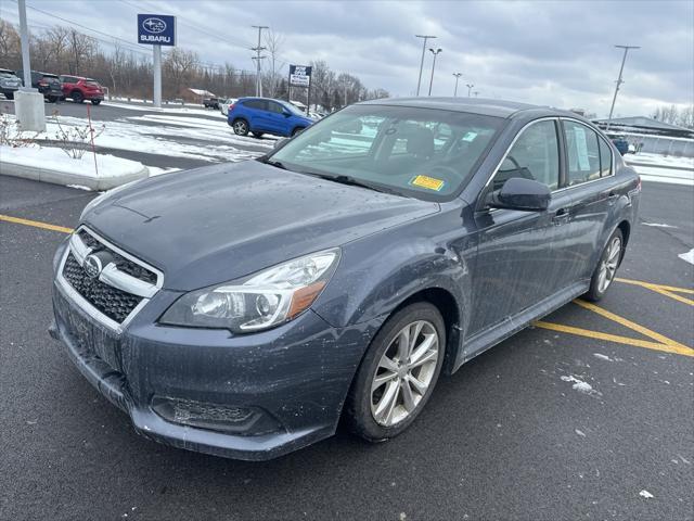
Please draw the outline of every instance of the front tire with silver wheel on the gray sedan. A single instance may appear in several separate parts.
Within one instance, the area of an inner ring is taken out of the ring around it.
[[[417,357],[417,366],[400,363],[406,358],[404,352],[400,351],[404,331],[409,332],[410,339],[408,361],[412,354],[424,350],[425,343],[429,342],[426,351]],[[434,305],[414,303],[388,318],[371,342],[349,390],[344,412],[347,427],[370,442],[388,440],[403,432],[430,397],[441,371],[445,351],[446,327]],[[422,359],[427,361],[422,363]],[[380,380],[377,384],[376,379]],[[416,386],[411,383],[413,379]]]

